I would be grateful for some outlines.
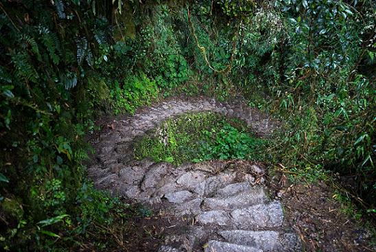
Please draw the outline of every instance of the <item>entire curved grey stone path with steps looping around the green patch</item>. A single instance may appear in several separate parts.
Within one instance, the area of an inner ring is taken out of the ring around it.
[[[283,222],[279,201],[271,201],[261,165],[211,161],[174,167],[148,159],[134,161],[134,140],[168,117],[213,111],[244,120],[260,136],[277,123],[239,102],[168,100],[132,117],[110,122],[93,143],[89,165],[95,186],[148,205],[168,220],[159,252],[300,251],[300,242]]]

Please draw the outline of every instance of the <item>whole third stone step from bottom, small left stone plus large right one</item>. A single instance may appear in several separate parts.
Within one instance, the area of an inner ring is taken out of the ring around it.
[[[283,221],[281,204],[273,201],[268,204],[252,205],[233,211],[204,211],[195,217],[198,225],[219,225],[241,229],[260,227],[280,227]]]

